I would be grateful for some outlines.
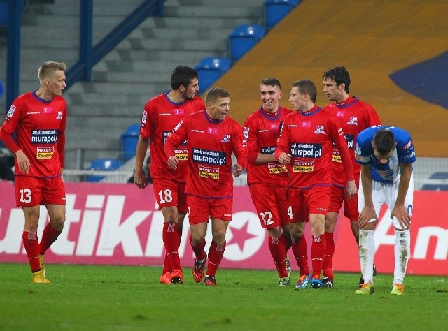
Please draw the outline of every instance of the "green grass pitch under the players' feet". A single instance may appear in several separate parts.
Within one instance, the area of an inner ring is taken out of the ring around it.
[[[408,275],[390,295],[355,295],[358,274],[335,288],[295,291],[272,270],[218,270],[218,286],[159,284],[161,267],[46,265],[52,284],[33,284],[27,264],[0,263],[0,330],[448,330],[448,276]]]

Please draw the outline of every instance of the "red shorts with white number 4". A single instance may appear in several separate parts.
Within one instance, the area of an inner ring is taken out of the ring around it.
[[[288,219],[290,223],[308,221],[308,214],[327,216],[331,186],[309,189],[288,189]]]

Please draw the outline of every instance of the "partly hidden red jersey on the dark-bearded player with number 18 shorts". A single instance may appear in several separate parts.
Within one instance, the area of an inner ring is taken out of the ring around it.
[[[149,139],[151,178],[174,179],[178,182],[186,181],[188,161],[186,142],[183,142],[179,148],[174,150],[177,159],[181,161],[177,170],[168,168],[163,145],[167,135],[184,117],[204,109],[204,101],[198,96],[183,103],[174,103],[169,100],[167,93],[165,93],[151,98],[146,103],[141,117],[140,135]]]

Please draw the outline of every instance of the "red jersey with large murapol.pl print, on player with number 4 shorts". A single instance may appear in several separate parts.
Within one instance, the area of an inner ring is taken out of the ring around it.
[[[342,153],[348,177],[353,180],[349,149],[344,131],[330,112],[314,105],[308,112],[293,112],[283,123],[275,156],[282,152],[293,156],[288,187],[307,189],[316,185],[331,185],[332,145]]]

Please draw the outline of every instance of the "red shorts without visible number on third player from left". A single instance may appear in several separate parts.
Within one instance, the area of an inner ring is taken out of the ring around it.
[[[209,219],[232,221],[233,198],[208,199],[187,196],[190,224],[207,223]]]

